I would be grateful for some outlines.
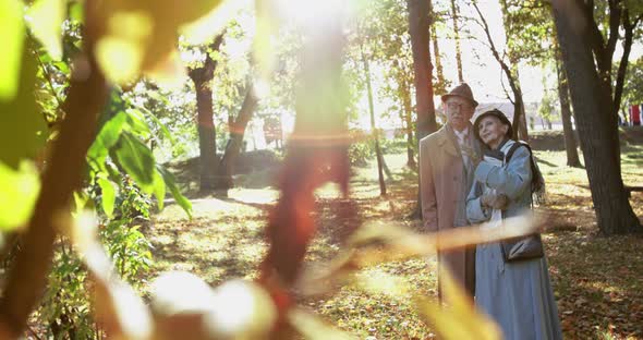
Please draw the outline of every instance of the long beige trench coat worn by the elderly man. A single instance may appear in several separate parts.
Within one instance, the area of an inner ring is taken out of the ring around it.
[[[480,159],[480,143],[469,126],[475,157],[468,169],[456,136],[447,125],[420,142],[420,185],[422,217],[428,232],[468,226],[466,195],[473,184],[473,172]],[[475,293],[475,245],[438,254],[440,268],[448,268],[457,282]],[[438,277],[438,292],[441,284]]]

